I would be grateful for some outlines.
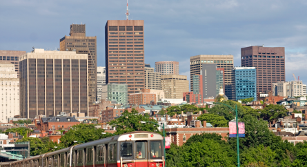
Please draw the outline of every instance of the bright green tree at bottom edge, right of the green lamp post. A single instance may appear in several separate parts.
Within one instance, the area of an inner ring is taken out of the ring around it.
[[[248,148],[241,153],[241,164],[248,166],[249,164],[257,164],[257,166],[277,166],[275,151],[270,147],[259,145],[257,148]]]

